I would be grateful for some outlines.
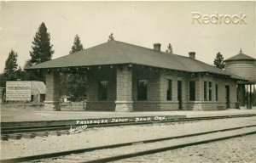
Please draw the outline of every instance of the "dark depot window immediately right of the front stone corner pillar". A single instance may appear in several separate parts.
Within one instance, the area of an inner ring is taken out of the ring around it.
[[[148,98],[148,80],[137,80],[137,100],[147,100]]]

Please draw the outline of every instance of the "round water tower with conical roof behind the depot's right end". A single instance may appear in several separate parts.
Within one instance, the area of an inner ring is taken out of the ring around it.
[[[225,70],[247,80],[237,83],[237,101],[240,106],[247,104],[247,108],[251,109],[255,103],[252,93],[255,93],[256,59],[240,50],[240,53],[225,60]]]

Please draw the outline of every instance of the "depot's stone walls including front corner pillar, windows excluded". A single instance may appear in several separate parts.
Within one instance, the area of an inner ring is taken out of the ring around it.
[[[147,100],[137,99],[137,81],[147,80]],[[98,82],[108,81],[108,100],[98,100]],[[172,80],[172,100],[167,100],[167,81]],[[230,86],[230,108],[236,108],[236,82],[210,74],[192,74],[156,70],[128,65],[123,67],[90,70],[88,73],[88,104],[85,110],[111,111],[168,111],[179,110],[177,81],[182,81],[181,110],[225,110],[226,89]],[[195,81],[195,101],[189,100],[189,81]],[[204,82],[207,82],[207,99],[204,99]],[[212,100],[209,98],[212,82]],[[218,84],[218,101],[215,85]]]

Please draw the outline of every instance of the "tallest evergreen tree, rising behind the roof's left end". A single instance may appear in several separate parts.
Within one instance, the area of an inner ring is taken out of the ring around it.
[[[53,45],[50,44],[50,35],[47,28],[42,22],[39,26],[34,41],[32,42],[32,51],[30,51],[31,59],[27,61],[29,65],[37,65],[42,62],[48,61],[52,58],[54,50]],[[43,71],[33,71],[31,80],[38,80],[45,82],[45,75]]]

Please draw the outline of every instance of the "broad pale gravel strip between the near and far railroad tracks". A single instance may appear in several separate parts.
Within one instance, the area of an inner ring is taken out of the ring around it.
[[[21,138],[1,141],[1,159],[26,155],[40,155],[71,149],[84,149],[113,143],[125,143],[152,138],[165,138],[195,132],[207,132],[236,126],[255,125],[255,117],[226,120],[198,121],[175,125],[115,126],[89,128],[84,132],[60,137]]]

